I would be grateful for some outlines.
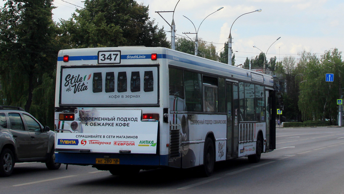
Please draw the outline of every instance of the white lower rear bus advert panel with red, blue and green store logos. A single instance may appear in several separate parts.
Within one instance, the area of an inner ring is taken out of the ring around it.
[[[56,133],[56,149],[157,153],[158,122],[141,121],[141,110],[79,108],[76,112],[78,121],[73,122],[81,124],[82,129]]]

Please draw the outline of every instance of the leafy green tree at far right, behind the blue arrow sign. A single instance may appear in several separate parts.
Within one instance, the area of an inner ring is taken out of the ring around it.
[[[336,118],[336,99],[340,98],[339,83],[344,83],[339,77],[344,68],[341,66],[341,52],[338,49],[325,51],[321,59],[309,52],[299,54],[300,69],[300,100],[299,107],[304,120],[325,120]],[[326,82],[325,74],[334,73],[334,82]]]

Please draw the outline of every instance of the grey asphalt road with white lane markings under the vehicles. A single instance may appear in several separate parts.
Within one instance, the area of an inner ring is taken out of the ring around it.
[[[157,169],[120,177],[91,166],[18,163],[0,178],[0,193],[344,193],[344,127],[277,128],[276,150],[259,163],[246,157],[198,169]]]

